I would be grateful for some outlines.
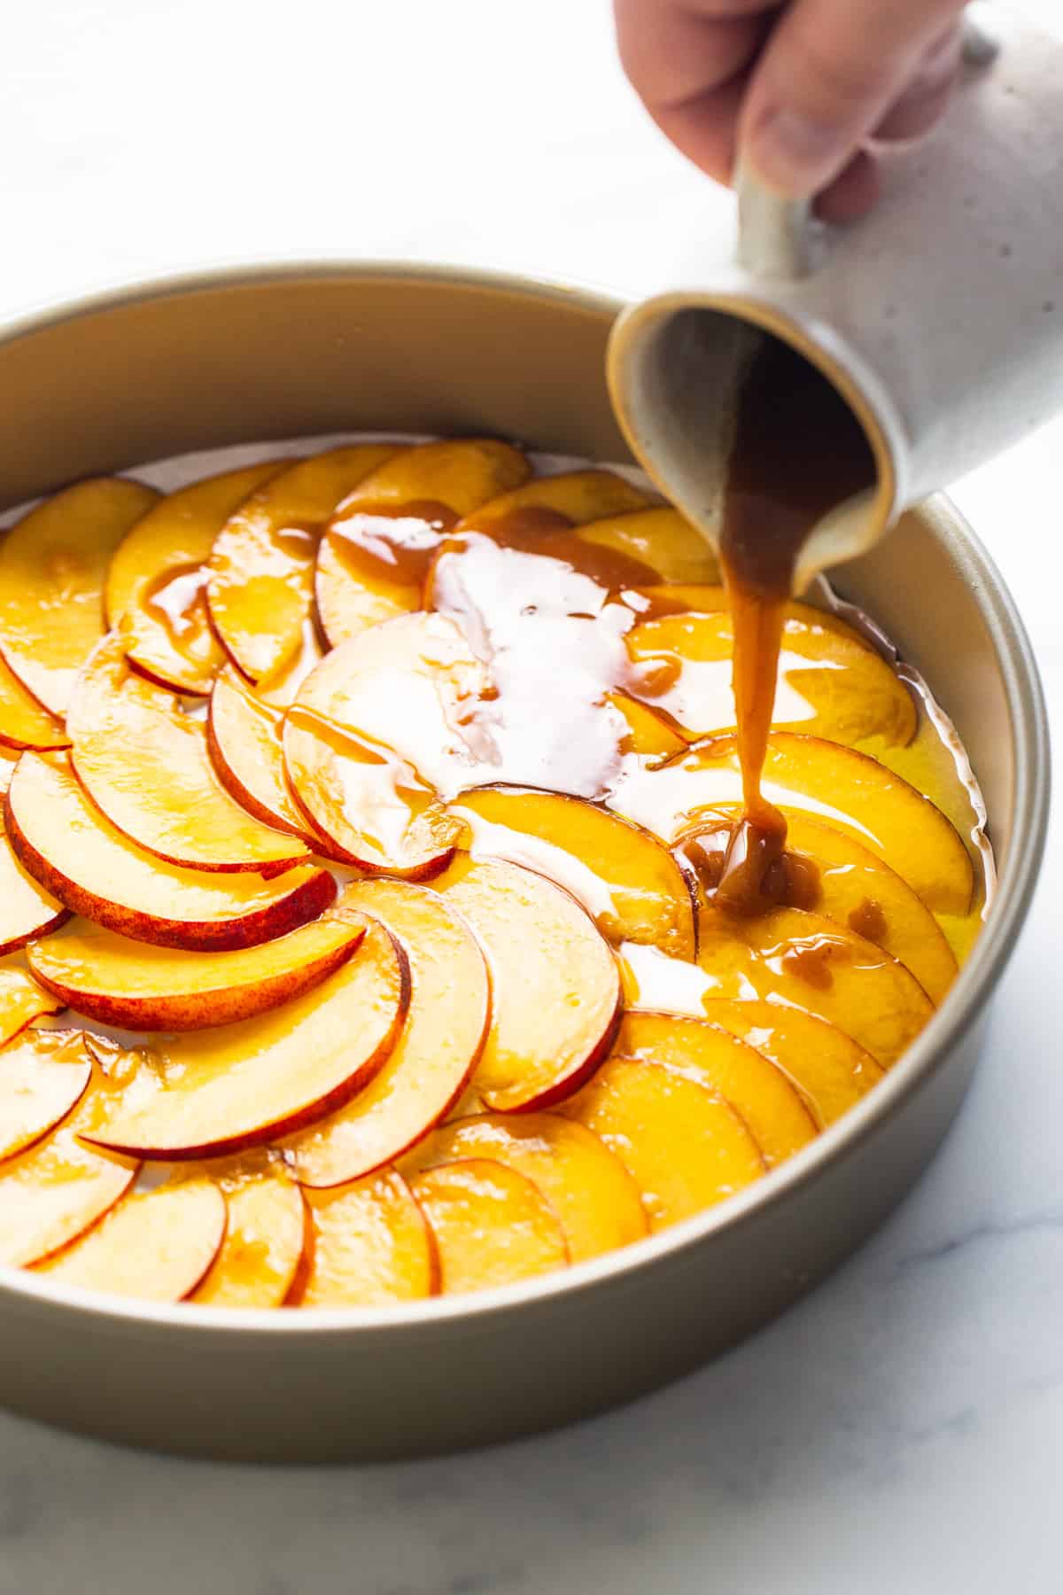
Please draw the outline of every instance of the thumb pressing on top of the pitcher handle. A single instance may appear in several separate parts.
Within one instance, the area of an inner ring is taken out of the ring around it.
[[[752,169],[779,193],[826,188],[961,8],[961,0],[794,0],[743,105],[739,144]]]

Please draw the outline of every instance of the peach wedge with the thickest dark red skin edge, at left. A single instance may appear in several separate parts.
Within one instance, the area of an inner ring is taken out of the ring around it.
[[[336,896],[327,869],[276,880],[166,864],[121,834],[62,756],[24,753],[6,798],[19,863],[75,914],[161,947],[253,947],[316,919]]]

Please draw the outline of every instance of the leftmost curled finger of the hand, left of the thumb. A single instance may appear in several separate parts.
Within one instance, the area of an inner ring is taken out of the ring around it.
[[[746,72],[773,6],[749,0],[746,14],[727,18],[712,14],[714,6],[717,0],[615,0],[614,10],[620,62],[653,121],[701,171],[730,182]]]

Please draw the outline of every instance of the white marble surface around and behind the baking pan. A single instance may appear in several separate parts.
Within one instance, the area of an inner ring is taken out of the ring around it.
[[[727,222],[639,115],[606,0],[3,14],[0,314],[265,250],[634,292],[695,207]],[[1057,726],[1061,456],[1063,423],[958,493],[1023,608]],[[945,1150],[783,1322],[631,1410],[411,1466],[215,1467],[0,1415],[0,1595],[1057,1592],[1058,829],[1045,874]]]

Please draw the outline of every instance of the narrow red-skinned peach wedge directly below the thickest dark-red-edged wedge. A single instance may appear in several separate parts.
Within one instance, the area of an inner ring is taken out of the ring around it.
[[[27,957],[46,990],[100,1024],[204,1030],[301,997],[346,963],[363,935],[357,916],[335,912],[258,947],[185,952],[75,919]]]

